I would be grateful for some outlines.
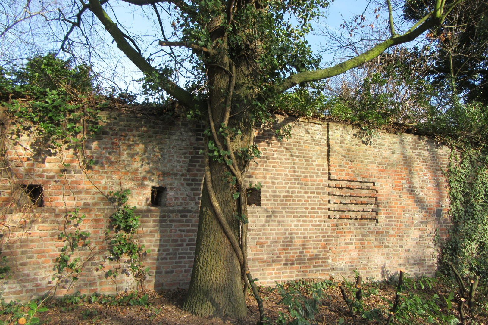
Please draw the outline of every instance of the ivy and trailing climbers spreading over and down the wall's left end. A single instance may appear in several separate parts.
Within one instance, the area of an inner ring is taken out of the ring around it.
[[[144,249],[134,236],[140,226],[140,216],[135,214],[136,207],[128,202],[131,191],[123,189],[122,184],[119,191],[108,192],[95,186],[115,211],[102,232],[102,245],[100,234],[93,236],[83,226],[86,216],[65,200],[65,191],[70,191],[69,186],[66,188],[67,174],[73,168],[66,154],[78,158],[79,168],[87,181],[92,181],[87,171],[94,161],[86,158],[85,140],[101,130],[99,112],[110,104],[110,98],[100,95],[93,85],[91,69],[72,66],[70,61],[52,54],[33,57],[16,69],[0,69],[0,104],[4,108],[0,112],[0,172],[1,179],[8,180],[8,191],[13,198],[0,209],[0,252],[11,242],[21,242],[23,234],[44,218],[37,211],[43,206],[41,185],[35,184],[35,176],[30,180],[19,179],[5,154],[8,148],[21,146],[31,154],[29,160],[57,157],[62,164],[59,178],[63,180],[60,184],[63,184],[65,215],[58,240],[63,246],[59,248],[57,264],[52,270],[50,294],[55,294],[60,286],[69,289],[90,263],[95,263],[106,278],[113,280],[115,291],[117,277],[124,270],[132,277],[133,288],[143,288],[149,269],[143,261],[150,249]],[[20,164],[24,161],[19,157]],[[28,173],[28,165],[24,165],[24,169]],[[8,185],[2,184],[4,191],[7,188]],[[11,238],[12,233],[15,238]],[[9,257],[3,256],[1,263],[0,277],[15,271],[15,262]]]

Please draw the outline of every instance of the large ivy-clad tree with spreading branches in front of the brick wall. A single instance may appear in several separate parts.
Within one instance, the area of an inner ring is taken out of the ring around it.
[[[305,36],[312,30],[312,20],[328,6],[327,0],[124,1],[141,6],[146,17],[154,17],[161,35],[152,42],[161,46],[160,64],[155,54],[144,57],[138,46],[143,40],[140,36],[130,36],[118,20],[112,20],[106,10],[110,0],[81,1],[71,6],[71,12],[60,10],[60,21],[67,25],[61,49],[73,54],[80,42],[75,31],[86,37],[90,28],[101,24],[123,55],[144,73],[148,92],[164,91],[185,105],[189,115],[206,120],[205,178],[184,308],[200,316],[234,318],[246,314],[244,292],[249,280],[253,286],[247,267],[244,175],[250,159],[259,155],[253,144],[254,123],[272,121],[267,104],[280,100],[281,94],[298,84],[340,75],[390,47],[417,38],[442,24],[462,2],[437,0],[422,18],[398,33],[388,0],[388,38],[342,63],[319,69],[320,58],[312,55]],[[163,19],[162,10],[166,12]],[[91,23],[87,22],[89,11],[93,13]],[[164,17],[175,31],[169,38]],[[89,39],[85,41],[89,46]],[[184,60],[177,48],[192,52]],[[193,83],[184,87],[175,81],[182,69],[193,76]]]

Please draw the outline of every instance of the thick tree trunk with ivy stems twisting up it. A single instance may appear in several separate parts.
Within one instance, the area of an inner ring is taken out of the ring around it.
[[[243,153],[252,144],[254,134],[248,106],[255,95],[248,85],[255,83],[253,79],[257,76],[258,67],[255,60],[249,59],[250,53],[241,60],[228,54],[227,35],[212,27],[219,24],[220,20],[214,19],[208,26],[213,31],[214,54],[206,56],[209,90],[206,129],[212,129],[213,123],[215,132],[208,136],[208,140],[214,141],[214,145],[227,153],[220,157],[224,162],[213,160],[213,156],[207,162],[210,173],[204,179],[195,259],[183,308],[198,316],[243,318],[247,313],[243,290],[243,285],[247,285],[244,273],[247,266],[247,224],[237,216],[247,217],[247,193],[242,172],[247,170],[249,160]],[[219,132],[221,128],[223,131]],[[207,143],[205,146],[207,150]],[[216,196],[213,203],[207,188],[209,175]],[[238,192],[236,199],[233,195]],[[231,229],[231,236],[236,239],[234,246],[217,218],[216,204]],[[241,257],[238,257],[239,253]]]

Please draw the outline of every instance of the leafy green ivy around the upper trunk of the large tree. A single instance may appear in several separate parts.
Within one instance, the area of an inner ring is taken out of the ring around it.
[[[216,49],[236,62],[243,55],[248,57],[255,72],[251,76],[254,80],[246,84],[249,90],[257,92],[281,83],[289,74],[319,67],[321,59],[312,54],[305,37],[313,30],[313,20],[323,16],[328,5],[329,1],[325,0],[237,2],[239,9],[231,21],[227,21],[226,1],[203,0],[182,5],[173,27],[175,35],[185,44]],[[210,21],[220,22],[219,29],[227,35],[225,44],[214,44],[211,34],[215,35],[215,30],[210,28]],[[253,44],[259,44],[259,51]],[[159,94],[162,88],[169,86],[168,80],[177,73],[173,59],[176,58],[164,60],[157,73],[145,74],[146,94]],[[208,90],[205,63],[211,62],[200,53],[188,57],[187,62],[193,67],[194,82],[187,83],[185,88],[190,92],[198,89],[197,95],[202,95]],[[196,111],[192,109],[189,115],[193,116]]]

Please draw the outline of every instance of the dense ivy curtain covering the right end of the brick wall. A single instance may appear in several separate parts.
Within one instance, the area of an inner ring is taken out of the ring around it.
[[[488,267],[488,148],[453,153],[447,172],[452,227],[441,262],[487,275]]]

